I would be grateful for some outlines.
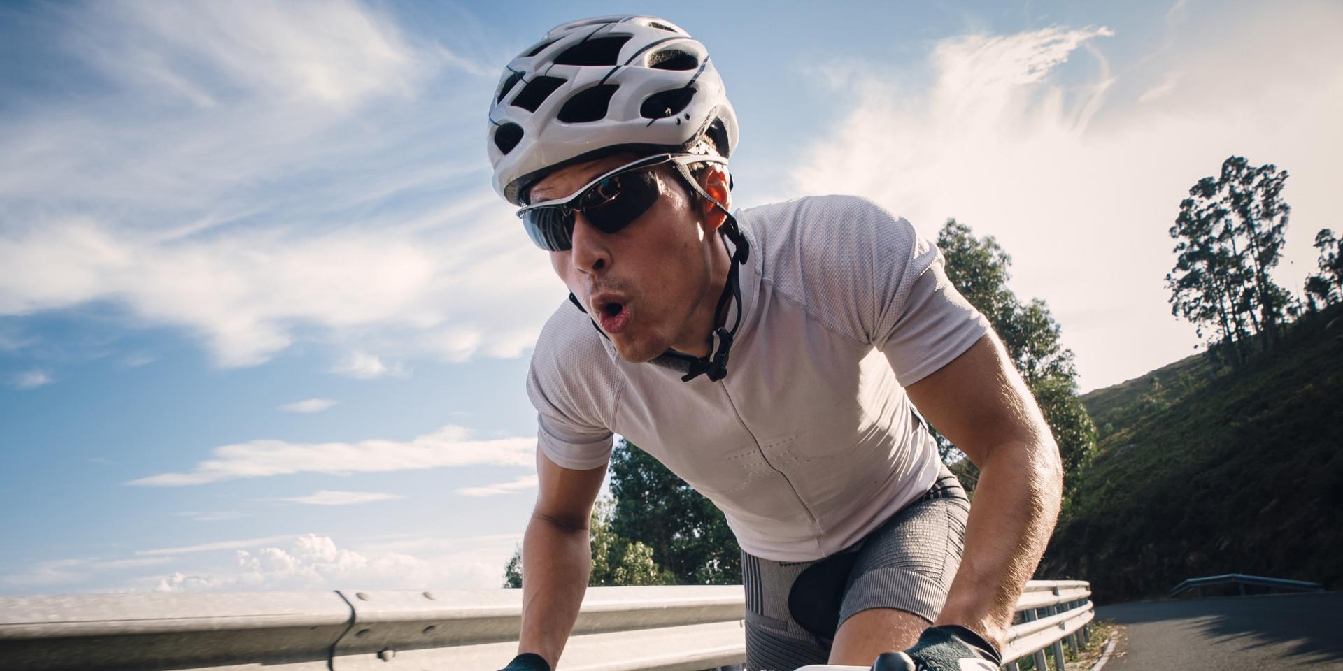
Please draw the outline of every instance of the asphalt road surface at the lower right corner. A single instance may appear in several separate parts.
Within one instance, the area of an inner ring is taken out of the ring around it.
[[[1096,609],[1127,631],[1105,671],[1343,671],[1343,592]]]

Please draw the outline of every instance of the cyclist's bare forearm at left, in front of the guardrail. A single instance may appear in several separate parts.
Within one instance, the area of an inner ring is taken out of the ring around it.
[[[522,631],[518,654],[536,652],[556,668],[592,570],[587,527],[533,515],[522,538]]]

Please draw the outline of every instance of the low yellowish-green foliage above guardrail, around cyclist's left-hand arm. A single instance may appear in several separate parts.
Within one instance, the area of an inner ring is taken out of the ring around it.
[[[614,502],[610,499],[598,501],[592,506],[588,525],[592,569],[588,574],[588,586],[676,584],[676,576],[662,570],[653,561],[653,550],[647,545],[638,541],[631,544],[611,530],[612,507]],[[504,568],[504,586],[522,586],[521,546],[513,550],[513,557]]]

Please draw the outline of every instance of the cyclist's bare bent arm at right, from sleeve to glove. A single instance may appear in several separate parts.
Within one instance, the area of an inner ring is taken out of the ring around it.
[[[968,627],[1002,650],[1058,518],[1058,446],[994,333],[907,392],[980,471],[960,569],[933,624]]]

